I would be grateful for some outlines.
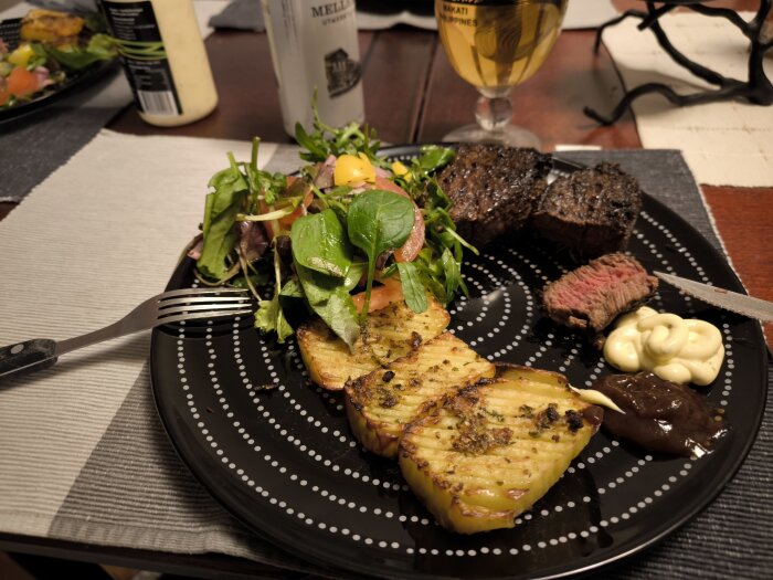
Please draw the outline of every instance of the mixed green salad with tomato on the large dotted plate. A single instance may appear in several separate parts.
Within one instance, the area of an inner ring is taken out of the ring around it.
[[[369,312],[403,299],[421,313],[428,294],[448,304],[466,294],[463,253],[451,201],[435,175],[453,149],[425,146],[402,164],[379,155],[375,131],[349,124],[298,125],[300,158],[287,176],[258,169],[260,139],[248,161],[229,154],[205,199],[195,273],[207,285],[250,288],[255,326],[294,333],[293,313],[311,312],[352,347]]]

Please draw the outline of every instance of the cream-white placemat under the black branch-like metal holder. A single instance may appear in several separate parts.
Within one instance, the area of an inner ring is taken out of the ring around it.
[[[680,94],[711,86],[674,63],[650,31],[636,29],[638,22],[628,19],[604,32],[627,89],[650,82]],[[724,76],[748,77],[749,42],[727,20],[677,13],[659,22],[688,57]],[[773,78],[773,54],[765,71]],[[633,110],[643,146],[681,149],[699,183],[773,186],[773,107],[735,101],[677,107],[663,96],[647,95],[634,102]]]

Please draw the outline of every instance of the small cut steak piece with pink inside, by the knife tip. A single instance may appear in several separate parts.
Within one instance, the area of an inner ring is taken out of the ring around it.
[[[607,254],[551,282],[542,307],[559,324],[586,330],[596,340],[617,315],[646,302],[658,286],[636,260]]]

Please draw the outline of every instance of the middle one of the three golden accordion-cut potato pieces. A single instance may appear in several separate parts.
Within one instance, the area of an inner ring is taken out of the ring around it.
[[[495,367],[449,333],[347,382],[346,408],[354,436],[370,451],[394,457],[405,424],[443,396],[495,375]]]

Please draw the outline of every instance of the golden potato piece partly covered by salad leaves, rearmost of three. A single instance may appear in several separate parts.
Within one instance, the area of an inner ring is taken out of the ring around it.
[[[353,351],[321,319],[298,328],[300,356],[315,383],[341,390],[350,380],[403,357],[422,342],[440,335],[451,317],[441,304],[427,297],[427,309],[416,314],[404,300],[368,315]]]

